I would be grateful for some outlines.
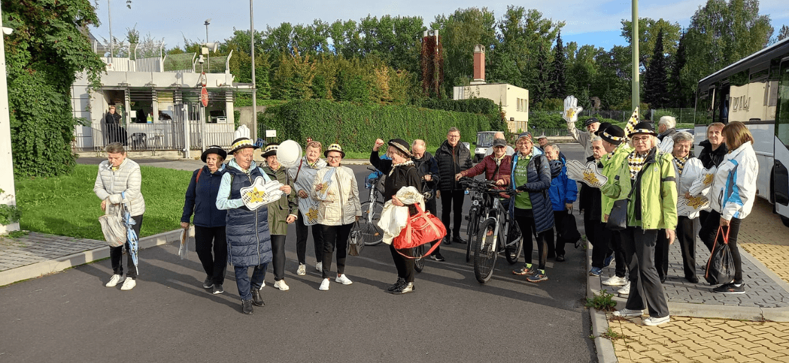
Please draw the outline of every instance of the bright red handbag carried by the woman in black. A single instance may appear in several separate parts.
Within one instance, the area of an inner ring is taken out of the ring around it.
[[[421,246],[425,243],[443,239],[443,237],[447,235],[447,228],[444,228],[439,217],[432,215],[430,212],[424,212],[421,206],[419,206],[419,203],[414,203],[413,206],[417,208],[417,214],[409,218],[406,228],[402,228],[400,235],[394,237],[392,240],[392,246],[394,246],[395,250],[405,250],[407,248]],[[438,245],[439,244],[436,243],[435,246],[432,246],[432,248],[425,253],[425,256],[432,254],[433,250],[435,250]],[[403,256],[406,255],[403,254]],[[424,256],[406,257],[421,258]]]

